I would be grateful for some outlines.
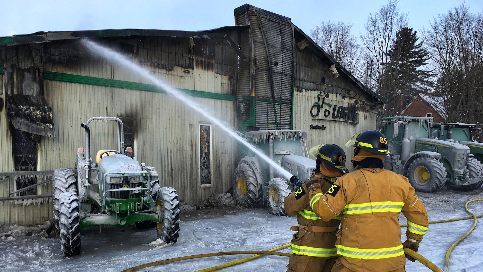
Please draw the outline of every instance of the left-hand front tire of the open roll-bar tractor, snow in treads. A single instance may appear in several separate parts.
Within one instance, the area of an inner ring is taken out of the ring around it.
[[[60,241],[62,254],[72,257],[81,253],[81,226],[77,192],[67,191],[59,195]]]

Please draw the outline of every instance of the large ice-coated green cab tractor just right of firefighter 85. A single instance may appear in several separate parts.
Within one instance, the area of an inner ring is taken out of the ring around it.
[[[386,169],[408,177],[416,191],[432,193],[445,184],[458,191],[472,191],[483,181],[482,166],[468,146],[438,139],[431,131],[433,117],[384,118],[383,133],[393,154]]]

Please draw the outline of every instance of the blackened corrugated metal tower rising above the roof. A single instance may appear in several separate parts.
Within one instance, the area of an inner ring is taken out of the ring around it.
[[[251,84],[246,90],[246,79],[240,77],[243,84],[239,85],[239,96],[250,93],[256,97],[255,102],[253,98],[242,97],[240,107],[251,105],[251,125],[261,129],[290,129],[294,65],[290,18],[250,5],[235,10],[235,18],[237,24],[248,23],[251,27],[250,34],[242,36],[241,43],[243,45],[244,39],[249,39],[252,65],[240,66],[240,74],[249,71]],[[241,122],[247,121],[246,111],[242,110],[241,114]]]

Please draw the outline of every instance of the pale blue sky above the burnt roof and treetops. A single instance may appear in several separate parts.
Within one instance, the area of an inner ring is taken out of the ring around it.
[[[438,14],[465,2],[473,13],[483,12],[482,0],[400,0],[409,13],[410,27],[421,30]],[[36,31],[99,29],[208,30],[234,25],[233,9],[245,3],[292,18],[306,33],[322,21],[354,24],[354,34],[364,31],[369,13],[387,0],[0,0],[0,36]]]

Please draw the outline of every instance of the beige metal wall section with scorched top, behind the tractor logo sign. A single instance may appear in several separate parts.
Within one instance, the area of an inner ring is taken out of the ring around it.
[[[309,149],[321,143],[334,143],[341,146],[350,158],[354,148],[347,148],[344,145],[355,133],[376,129],[376,106],[367,93],[360,91],[342,76],[336,78],[329,70],[329,65],[307,49],[295,49],[294,129],[307,131]],[[325,79],[325,83],[322,83],[322,78]],[[326,93],[328,97],[324,101],[331,105],[351,107],[357,102],[358,124],[353,125],[331,118],[332,109],[330,116],[324,117],[323,111],[328,108],[327,104],[325,107],[322,105],[321,113],[314,118],[311,115],[311,108],[316,102],[323,104]],[[320,99],[317,98],[319,94],[322,95],[319,96]],[[311,129],[311,125],[325,126],[326,129]],[[353,169],[350,159],[347,160],[346,166],[350,170]]]

